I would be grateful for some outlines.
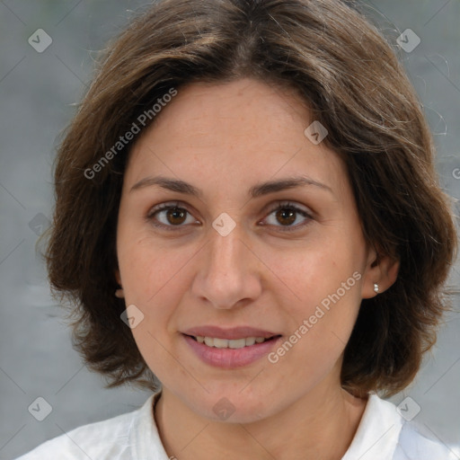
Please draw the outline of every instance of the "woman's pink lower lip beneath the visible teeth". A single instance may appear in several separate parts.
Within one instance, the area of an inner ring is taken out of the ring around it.
[[[243,347],[242,349],[217,349],[216,347],[208,347],[204,343],[199,343],[199,341],[195,341],[188,335],[182,334],[182,336],[189,344],[190,349],[206,364],[227,369],[252,364],[254,361],[268,355],[270,350],[281,339],[281,337],[277,337],[270,341],[254,343],[254,345]]]

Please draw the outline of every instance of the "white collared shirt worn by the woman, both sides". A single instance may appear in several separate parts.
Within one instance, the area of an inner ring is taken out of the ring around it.
[[[16,460],[169,460],[154,418],[159,395],[150,395],[136,411],[73,429]],[[369,394],[358,430],[341,460],[458,458],[450,448],[404,420],[393,403]]]

